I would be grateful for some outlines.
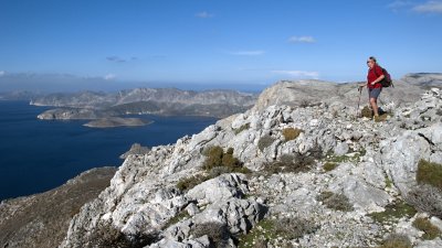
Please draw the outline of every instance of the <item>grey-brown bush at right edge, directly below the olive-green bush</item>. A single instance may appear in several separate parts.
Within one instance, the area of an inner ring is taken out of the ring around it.
[[[415,208],[442,218],[442,191],[431,185],[418,185],[407,194],[407,202]]]

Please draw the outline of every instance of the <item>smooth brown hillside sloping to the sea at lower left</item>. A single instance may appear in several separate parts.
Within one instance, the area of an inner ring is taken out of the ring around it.
[[[56,247],[71,218],[109,185],[116,168],[83,172],[64,185],[0,203],[0,247]]]

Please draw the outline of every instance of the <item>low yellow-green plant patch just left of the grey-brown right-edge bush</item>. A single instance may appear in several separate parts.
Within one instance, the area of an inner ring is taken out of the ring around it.
[[[412,217],[417,211],[411,205],[403,201],[398,201],[393,204],[387,205],[385,212],[371,213],[369,216],[378,223],[386,223],[388,220],[399,219],[401,217]]]

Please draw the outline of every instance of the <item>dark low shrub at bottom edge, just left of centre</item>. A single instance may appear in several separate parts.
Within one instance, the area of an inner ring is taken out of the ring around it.
[[[196,238],[207,235],[212,247],[225,247],[231,237],[228,226],[218,222],[197,225],[191,235]]]

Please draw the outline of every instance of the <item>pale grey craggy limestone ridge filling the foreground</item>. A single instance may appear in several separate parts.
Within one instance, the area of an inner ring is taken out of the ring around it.
[[[266,247],[373,247],[396,233],[414,247],[441,247],[440,236],[427,240],[413,226],[428,217],[442,229],[438,213],[420,209],[388,222],[376,216],[415,192],[420,160],[442,163],[442,91],[432,88],[411,104],[390,101],[386,120],[373,122],[343,101],[292,106],[288,89],[302,84],[276,84],[244,114],[175,144],[127,154],[110,186],[73,217],[61,247],[99,247],[115,237],[130,247],[211,247],[213,236],[198,230],[217,225],[225,228],[218,231],[227,234],[221,247],[253,247],[244,240],[260,231],[255,247],[260,238],[269,239]],[[299,131],[287,139],[286,130]],[[252,172],[219,173],[180,190],[182,180],[207,174],[202,164],[211,147],[233,148]],[[286,165],[275,171],[281,163]],[[434,209],[442,209],[440,203]],[[313,225],[296,237],[269,238],[272,228],[262,223],[281,219]]]

